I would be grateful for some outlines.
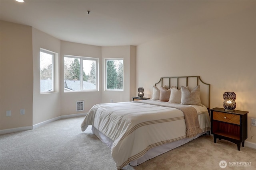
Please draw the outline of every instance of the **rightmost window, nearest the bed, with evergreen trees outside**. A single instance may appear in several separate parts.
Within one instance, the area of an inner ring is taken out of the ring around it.
[[[124,59],[105,59],[105,90],[124,90]]]

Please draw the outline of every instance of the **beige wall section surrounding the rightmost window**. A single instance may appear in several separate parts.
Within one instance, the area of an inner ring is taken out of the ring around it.
[[[134,92],[135,87],[135,53],[136,47],[134,46],[114,46],[102,47],[102,103],[113,102],[127,102],[131,101],[132,97],[130,92]],[[123,58],[124,59],[124,90],[123,91],[108,91],[104,90],[104,59]]]

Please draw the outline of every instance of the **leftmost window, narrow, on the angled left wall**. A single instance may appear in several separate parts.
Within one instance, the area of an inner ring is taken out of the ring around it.
[[[40,92],[54,92],[55,53],[40,49]]]

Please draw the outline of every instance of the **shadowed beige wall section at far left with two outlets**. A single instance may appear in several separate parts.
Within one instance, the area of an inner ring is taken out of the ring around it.
[[[32,126],[32,27],[1,21],[0,29],[0,129]],[[25,109],[24,115],[20,109]],[[7,117],[6,110],[12,115]]]

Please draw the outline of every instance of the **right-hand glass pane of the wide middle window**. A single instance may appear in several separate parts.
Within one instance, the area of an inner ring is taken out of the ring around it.
[[[96,90],[96,61],[83,60],[83,90]]]

